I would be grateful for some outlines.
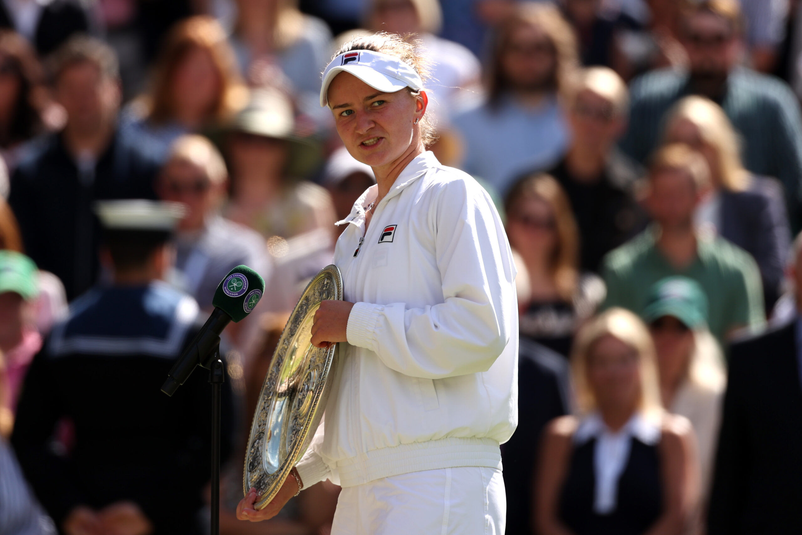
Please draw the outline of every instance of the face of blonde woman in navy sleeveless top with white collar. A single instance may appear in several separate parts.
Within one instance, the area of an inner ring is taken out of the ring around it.
[[[625,411],[637,406],[641,392],[640,358],[634,347],[611,334],[590,347],[588,386],[600,411]]]

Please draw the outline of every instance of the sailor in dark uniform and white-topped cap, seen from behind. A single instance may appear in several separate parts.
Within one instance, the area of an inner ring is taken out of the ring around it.
[[[59,529],[79,533],[201,533],[209,480],[211,389],[196,372],[175,395],[160,385],[197,332],[194,299],[160,282],[182,210],[153,201],[99,204],[111,286],[73,303],[31,364],[11,443]],[[229,384],[229,383],[225,383]],[[222,455],[230,452],[224,391]],[[67,419],[71,448],[51,448]]]

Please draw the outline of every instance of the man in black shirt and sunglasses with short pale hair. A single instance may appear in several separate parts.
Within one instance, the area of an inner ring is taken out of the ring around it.
[[[581,269],[598,272],[606,253],[646,225],[635,200],[642,169],[615,147],[626,128],[626,83],[609,68],[584,69],[567,107],[571,145],[549,174],[565,189],[577,218]]]

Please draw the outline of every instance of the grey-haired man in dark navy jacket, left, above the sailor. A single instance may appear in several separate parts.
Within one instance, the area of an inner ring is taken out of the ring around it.
[[[62,132],[39,140],[12,178],[9,203],[26,253],[56,274],[72,300],[98,276],[100,199],[154,198],[156,160],[117,128],[117,59],[107,45],[75,37],[51,63]]]

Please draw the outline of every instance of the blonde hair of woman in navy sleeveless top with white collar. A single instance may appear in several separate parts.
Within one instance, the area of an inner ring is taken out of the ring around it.
[[[640,392],[638,407],[646,414],[662,415],[657,357],[649,329],[630,310],[611,308],[582,326],[571,355],[571,372],[577,408],[587,414],[597,408],[597,400],[588,384],[588,359],[596,343],[612,336],[638,354]]]

